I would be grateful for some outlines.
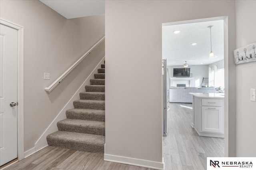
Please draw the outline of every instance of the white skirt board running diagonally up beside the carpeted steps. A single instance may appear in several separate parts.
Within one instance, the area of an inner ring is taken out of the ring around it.
[[[54,118],[52,123],[50,123],[50,125],[46,128],[44,133],[36,141],[36,143],[35,143],[35,151],[41,150],[42,148],[48,146],[48,143],[46,141],[46,136],[48,134],[51,134],[51,133],[53,133],[53,132],[58,130],[57,122],[61,121],[63,119],[66,119],[66,110],[74,108],[73,107],[73,101],[80,99],[79,93],[80,92],[84,92],[84,86],[85,85],[90,85],[90,79],[94,79],[94,73],[98,73],[98,68],[101,68],[100,66],[101,66],[102,63],[104,63],[104,59],[105,59],[105,57],[102,58],[102,60],[98,63],[98,65],[94,68],[94,70],[86,78],[84,83],[82,83],[82,85],[78,88],[76,93],[71,97],[71,99],[68,101],[68,103],[66,103],[66,105],[61,109],[60,113]]]

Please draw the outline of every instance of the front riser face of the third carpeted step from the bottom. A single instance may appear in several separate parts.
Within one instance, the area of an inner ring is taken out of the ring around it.
[[[98,115],[93,113],[72,113],[72,112],[66,111],[66,117],[67,119],[79,119],[79,120],[105,122],[105,114]]]

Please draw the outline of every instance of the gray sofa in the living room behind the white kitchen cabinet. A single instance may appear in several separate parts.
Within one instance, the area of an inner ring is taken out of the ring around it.
[[[169,101],[171,103],[192,103],[189,93],[216,93],[215,87],[170,87]]]

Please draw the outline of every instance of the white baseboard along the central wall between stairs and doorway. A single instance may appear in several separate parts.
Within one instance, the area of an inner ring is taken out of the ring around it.
[[[116,156],[110,154],[104,154],[104,160],[109,162],[116,162],[121,164],[128,164],[134,166],[141,166],[145,168],[152,168],[156,170],[164,170],[164,161],[163,162],[154,162],[150,160],[128,158],[124,156]],[[164,160],[164,159],[163,159]]]

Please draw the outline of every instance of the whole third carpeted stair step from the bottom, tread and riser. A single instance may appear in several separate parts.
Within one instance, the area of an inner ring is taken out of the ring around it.
[[[89,121],[105,121],[105,111],[96,109],[69,109],[66,111],[67,119],[80,119]]]

